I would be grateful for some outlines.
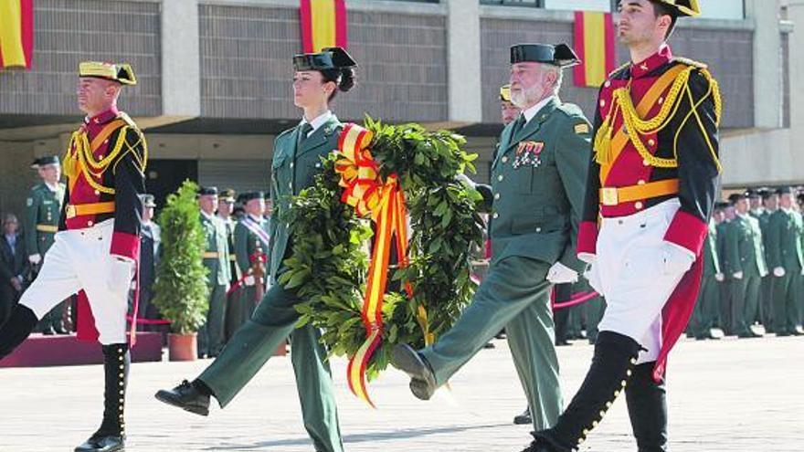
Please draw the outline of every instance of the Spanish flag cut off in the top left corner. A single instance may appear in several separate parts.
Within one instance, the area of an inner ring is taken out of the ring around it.
[[[34,0],[0,0],[0,69],[30,68]]]

